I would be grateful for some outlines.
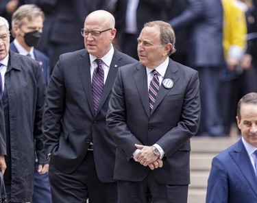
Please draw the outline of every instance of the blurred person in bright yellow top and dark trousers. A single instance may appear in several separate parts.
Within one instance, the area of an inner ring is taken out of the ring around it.
[[[222,5],[225,64],[221,70],[221,75],[219,75],[221,82],[219,106],[222,111],[224,132],[229,135],[231,134],[230,130],[236,128],[234,117],[236,117],[236,104],[239,99],[238,90],[241,89],[242,85],[241,59],[246,48],[247,27],[245,13],[237,0],[222,0]]]

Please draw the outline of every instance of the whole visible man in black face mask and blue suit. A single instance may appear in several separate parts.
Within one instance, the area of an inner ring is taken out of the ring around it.
[[[15,38],[10,44],[10,50],[37,60],[42,68],[45,83],[47,84],[49,81],[49,58],[34,48],[40,40],[44,19],[44,13],[36,5],[21,5],[12,15],[12,34]],[[37,158],[32,202],[51,202],[48,173],[38,173]]]

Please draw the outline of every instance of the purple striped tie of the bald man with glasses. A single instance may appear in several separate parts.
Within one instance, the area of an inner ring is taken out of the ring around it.
[[[101,93],[103,93],[104,72],[103,72],[103,67],[101,66],[101,59],[97,58],[95,62],[97,62],[97,68],[95,69],[92,77],[92,91],[93,91],[93,104],[96,112],[100,103]]]

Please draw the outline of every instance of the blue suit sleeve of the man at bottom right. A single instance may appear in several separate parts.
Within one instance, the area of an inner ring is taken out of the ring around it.
[[[208,178],[206,203],[227,203],[228,187],[228,173],[224,163],[215,157],[212,160],[212,168]]]

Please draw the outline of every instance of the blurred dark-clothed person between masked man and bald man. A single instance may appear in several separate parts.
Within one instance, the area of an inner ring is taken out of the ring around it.
[[[52,72],[60,54],[84,48],[79,30],[84,25],[85,16],[96,10],[98,1],[36,1],[44,12],[47,10],[47,13],[51,14],[51,21],[47,21],[50,25],[46,26],[48,32],[43,32],[47,37],[43,38],[42,43],[47,40],[45,43],[49,45]]]

